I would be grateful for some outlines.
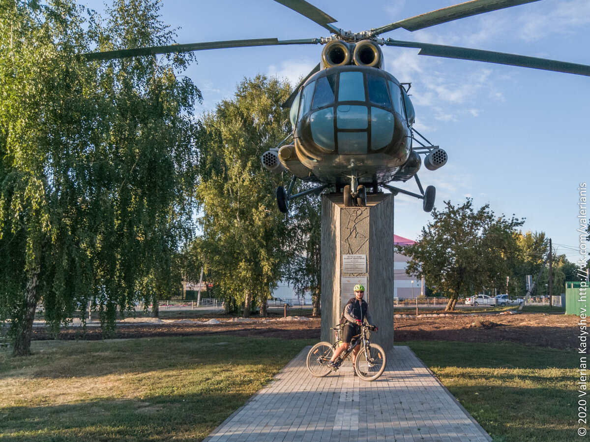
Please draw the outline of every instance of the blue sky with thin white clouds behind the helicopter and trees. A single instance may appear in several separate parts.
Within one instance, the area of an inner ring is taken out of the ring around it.
[[[312,0],[345,30],[362,31],[459,1]],[[102,1],[88,3],[102,9]],[[163,0],[162,18],[178,28],[178,43],[277,37],[327,37],[320,25],[272,0]],[[383,37],[473,47],[590,64],[590,2],[542,0]],[[320,45],[235,48],[196,53],[186,75],[201,89],[197,114],[230,98],[243,77],[258,73],[293,84],[318,61]],[[423,170],[424,186],[459,204],[473,197],[498,215],[526,217],[523,230],[544,231],[555,251],[579,259],[580,183],[590,181],[590,77],[512,66],[418,56],[383,48],[385,69],[411,82],[415,127],[449,155],[438,171]],[[590,183],[589,183],[590,184]],[[405,188],[415,191],[413,181]],[[430,215],[411,197],[395,205],[395,233],[416,239]]]

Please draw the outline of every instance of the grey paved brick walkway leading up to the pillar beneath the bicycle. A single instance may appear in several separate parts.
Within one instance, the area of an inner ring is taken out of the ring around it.
[[[353,377],[350,362],[314,378],[308,351],[204,442],[491,441],[408,347],[391,350],[373,382]]]

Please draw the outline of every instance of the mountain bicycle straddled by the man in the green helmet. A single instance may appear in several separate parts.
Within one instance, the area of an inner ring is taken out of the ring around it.
[[[307,369],[316,378],[323,378],[333,371],[328,366],[328,362],[330,362],[330,358],[332,358],[336,347],[342,344],[342,327],[342,325],[330,327],[330,330],[334,330],[335,332],[335,343],[330,344],[327,341],[319,342],[307,353]],[[365,381],[375,381],[375,379],[381,376],[387,362],[383,347],[372,344],[369,340],[369,330],[371,329],[374,329],[374,327],[362,324],[360,326],[360,334],[353,336],[348,350],[342,353],[335,361],[337,367],[340,367],[356,346],[362,346],[360,352],[356,355],[355,369],[359,378]]]

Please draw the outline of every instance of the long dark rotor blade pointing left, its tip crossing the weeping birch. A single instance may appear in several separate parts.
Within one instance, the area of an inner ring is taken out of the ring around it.
[[[304,40],[277,40],[276,38],[257,38],[250,40],[209,41],[207,43],[171,44],[168,46],[152,46],[135,49],[119,49],[114,51],[91,52],[82,54],[82,57],[86,58],[86,60],[88,61],[113,60],[114,58],[127,58],[138,56],[150,56],[156,54],[203,51],[207,49],[318,43],[320,43],[319,38],[306,38]]]

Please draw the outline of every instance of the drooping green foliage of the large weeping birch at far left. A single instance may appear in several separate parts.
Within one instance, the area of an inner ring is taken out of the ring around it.
[[[117,307],[176,287],[200,93],[179,56],[79,57],[170,43],[155,1],[117,0],[104,22],[71,0],[0,2],[0,320],[27,354],[41,300],[54,330],[89,304],[112,329]]]

